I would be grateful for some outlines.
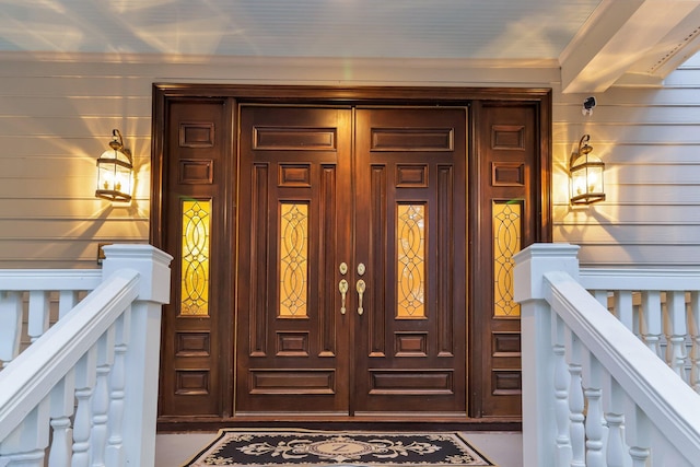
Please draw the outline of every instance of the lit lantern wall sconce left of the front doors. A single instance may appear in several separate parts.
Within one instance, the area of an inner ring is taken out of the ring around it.
[[[109,201],[131,200],[131,178],[133,160],[131,151],[124,147],[119,130],[112,130],[114,139],[109,141],[109,150],[97,159],[97,198]]]

